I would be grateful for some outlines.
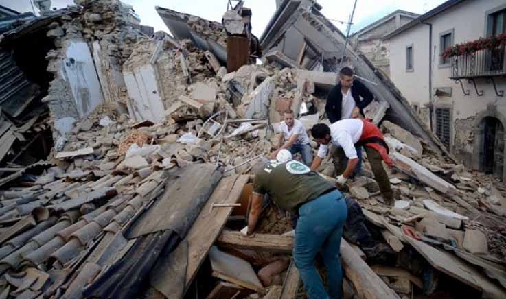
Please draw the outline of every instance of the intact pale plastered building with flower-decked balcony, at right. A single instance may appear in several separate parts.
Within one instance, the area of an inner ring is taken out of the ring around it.
[[[505,1],[446,1],[384,40],[391,80],[450,152],[506,178]]]

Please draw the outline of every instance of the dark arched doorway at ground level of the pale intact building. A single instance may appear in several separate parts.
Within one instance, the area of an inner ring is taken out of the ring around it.
[[[495,117],[484,117],[479,125],[481,133],[480,170],[485,174],[503,177],[504,127]]]

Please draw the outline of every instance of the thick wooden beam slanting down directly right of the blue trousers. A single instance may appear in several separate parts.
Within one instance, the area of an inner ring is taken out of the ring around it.
[[[392,299],[400,297],[371,270],[345,239],[341,239],[341,262],[345,275],[352,281],[357,296],[365,299]]]

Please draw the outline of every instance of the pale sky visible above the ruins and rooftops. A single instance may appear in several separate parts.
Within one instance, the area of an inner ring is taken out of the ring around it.
[[[168,32],[160,16],[154,10],[155,6],[170,8],[187,14],[194,14],[211,21],[221,21],[222,14],[227,10],[228,0],[123,0],[133,5],[134,10],[141,16],[141,24],[154,27],[154,31],[163,30]],[[445,0],[358,0],[351,32],[356,32],[366,25],[381,19],[394,10],[407,10],[417,14],[424,14],[432,10]],[[51,7],[65,8],[73,4],[73,0],[52,0]],[[275,0],[246,0],[245,6],[253,12],[253,34],[261,36],[276,8]],[[321,12],[327,19],[347,22],[352,14],[354,1],[319,0],[323,6]],[[0,0],[0,5],[18,10],[19,12],[32,11],[30,0]],[[35,8],[36,10],[36,8]],[[38,12],[38,10],[36,10]],[[347,25],[333,21],[334,25],[346,32]]]

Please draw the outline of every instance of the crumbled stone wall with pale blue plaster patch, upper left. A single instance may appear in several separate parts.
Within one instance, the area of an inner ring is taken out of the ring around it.
[[[47,32],[56,49],[47,55],[47,71],[54,80],[43,101],[54,120],[57,149],[65,145],[72,123],[103,101],[124,106],[128,94],[122,66],[132,53],[131,46],[146,37],[126,22],[117,0],[75,3],[83,9],[72,16],[63,15]]]

